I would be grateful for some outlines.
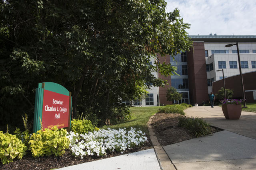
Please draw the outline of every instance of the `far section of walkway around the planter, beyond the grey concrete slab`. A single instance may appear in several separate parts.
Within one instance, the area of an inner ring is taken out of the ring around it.
[[[184,111],[188,117],[202,117],[215,127],[256,139],[256,113],[242,111],[240,119],[229,120],[219,106],[190,107]]]

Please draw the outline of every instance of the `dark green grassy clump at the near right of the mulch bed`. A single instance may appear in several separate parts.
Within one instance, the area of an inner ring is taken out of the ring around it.
[[[201,118],[179,117],[178,126],[185,127],[194,137],[202,137],[212,133],[210,124]]]

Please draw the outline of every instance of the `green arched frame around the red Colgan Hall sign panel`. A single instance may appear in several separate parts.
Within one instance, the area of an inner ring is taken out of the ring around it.
[[[38,88],[36,88],[36,99],[35,99],[35,109],[34,109],[34,125],[33,125],[33,133],[36,133],[41,129],[42,123],[42,111],[43,111],[43,100],[44,100],[44,90],[49,90],[55,93],[63,94],[66,96],[70,96],[69,101],[69,120],[67,131],[70,131],[70,122],[72,117],[72,96],[71,92],[69,92],[62,85],[54,83],[54,82],[43,82],[38,84]]]

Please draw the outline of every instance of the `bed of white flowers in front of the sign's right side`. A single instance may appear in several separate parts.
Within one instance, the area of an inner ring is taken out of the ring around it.
[[[142,131],[131,128],[130,131],[124,129],[98,130],[88,134],[78,134],[70,132],[67,136],[70,140],[70,147],[75,156],[97,156],[106,155],[106,151],[123,153],[126,149],[142,145],[147,141],[147,137]]]

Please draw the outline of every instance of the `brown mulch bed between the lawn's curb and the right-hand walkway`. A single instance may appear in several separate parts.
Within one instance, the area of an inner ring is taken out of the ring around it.
[[[183,128],[178,127],[178,117],[183,116],[178,113],[157,113],[152,117],[152,127],[156,134],[158,142],[162,146],[179,143],[192,138],[190,132]],[[222,129],[211,127],[212,133],[222,131]]]

